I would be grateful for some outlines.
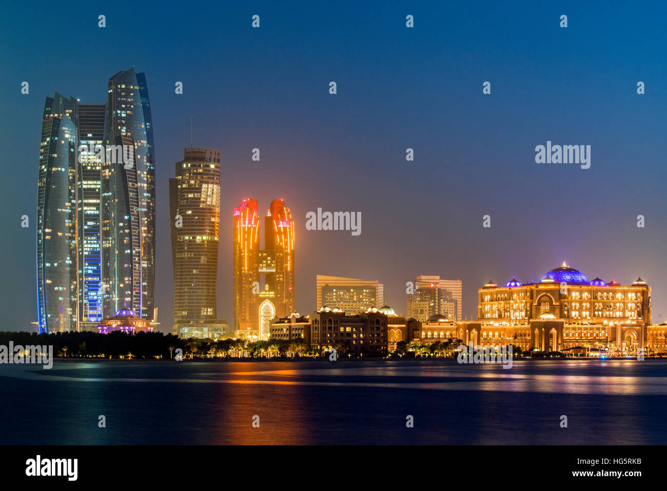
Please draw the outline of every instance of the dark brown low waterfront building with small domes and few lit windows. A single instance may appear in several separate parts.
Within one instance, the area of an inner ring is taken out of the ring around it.
[[[348,315],[339,308],[323,306],[311,314],[310,332],[315,351],[342,344],[358,355],[387,353],[388,316],[377,308]]]

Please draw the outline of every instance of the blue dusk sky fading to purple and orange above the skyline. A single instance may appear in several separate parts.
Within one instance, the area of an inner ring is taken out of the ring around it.
[[[107,79],[131,66],[146,73],[153,114],[164,332],[173,320],[168,179],[189,145],[190,117],[194,145],[221,150],[217,298],[229,324],[232,210],[243,197],[262,210],[274,198],[291,207],[301,314],[315,308],[316,274],[380,280],[400,314],[406,282],[435,274],[463,280],[463,313],[474,318],[488,280],[537,281],[565,260],[590,279],[628,284],[641,276],[652,286],[654,322],[664,320],[664,4],[242,4],[135,3],[128,13],[38,1],[5,9],[3,329],[34,329],[37,320],[44,99],[59,91],[103,103]],[[482,94],[484,81],[491,95]],[[591,145],[590,169],[535,163],[535,146],[547,140]],[[260,162],[251,160],[253,147]],[[405,159],[408,147],[414,162]],[[317,207],[361,211],[361,235],[305,230],[305,213]]]

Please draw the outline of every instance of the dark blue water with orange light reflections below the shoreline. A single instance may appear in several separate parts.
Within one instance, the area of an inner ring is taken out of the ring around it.
[[[662,360],[526,360],[507,370],[456,360],[57,359],[51,370],[0,365],[0,435],[38,445],[665,444],[666,376]]]

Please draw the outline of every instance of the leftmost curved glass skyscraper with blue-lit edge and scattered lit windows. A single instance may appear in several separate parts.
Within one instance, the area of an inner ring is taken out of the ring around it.
[[[37,182],[39,332],[76,329],[76,113],[75,99],[46,98]]]

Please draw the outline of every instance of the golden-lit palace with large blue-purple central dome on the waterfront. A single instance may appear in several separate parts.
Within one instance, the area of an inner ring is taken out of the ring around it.
[[[560,351],[586,343],[630,354],[650,342],[660,346],[660,328],[651,325],[651,288],[641,278],[630,285],[590,281],[563,264],[538,283],[490,281],[478,300],[478,321],[460,323],[458,337],[466,344]]]

